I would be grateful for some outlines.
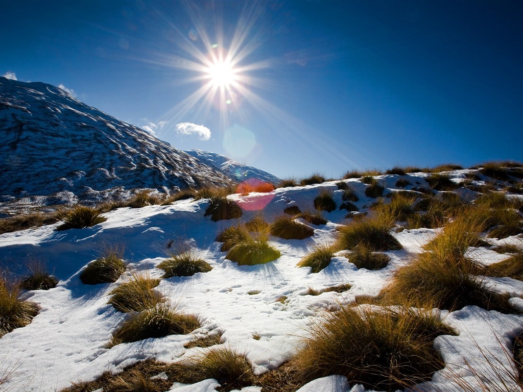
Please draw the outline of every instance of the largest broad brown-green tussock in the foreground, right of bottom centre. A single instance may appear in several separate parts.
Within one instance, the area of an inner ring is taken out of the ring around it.
[[[394,391],[429,381],[445,363],[436,336],[456,333],[429,313],[344,307],[312,330],[294,359],[305,381],[339,374],[366,389]]]

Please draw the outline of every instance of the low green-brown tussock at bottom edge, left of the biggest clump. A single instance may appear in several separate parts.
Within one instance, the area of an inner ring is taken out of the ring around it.
[[[230,391],[253,385],[251,363],[245,355],[229,347],[210,349],[194,358],[174,364],[173,378],[180,383],[194,384],[214,378],[221,384],[218,390]]]

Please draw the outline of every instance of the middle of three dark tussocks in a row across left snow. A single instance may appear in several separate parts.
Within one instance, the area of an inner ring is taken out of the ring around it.
[[[85,284],[114,283],[127,269],[122,260],[123,250],[113,247],[105,251],[105,255],[87,264],[80,274],[80,280]]]

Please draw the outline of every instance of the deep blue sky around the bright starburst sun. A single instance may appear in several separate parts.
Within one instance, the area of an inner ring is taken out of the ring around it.
[[[523,161],[521,1],[0,6],[0,75],[63,85],[180,149],[279,177]],[[228,53],[233,79],[209,86]]]

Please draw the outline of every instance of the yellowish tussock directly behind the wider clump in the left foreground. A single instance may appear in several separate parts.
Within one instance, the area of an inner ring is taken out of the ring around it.
[[[108,304],[120,312],[140,312],[162,301],[160,293],[152,290],[160,279],[151,279],[147,274],[133,273],[125,282],[112,290]]]

